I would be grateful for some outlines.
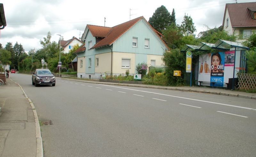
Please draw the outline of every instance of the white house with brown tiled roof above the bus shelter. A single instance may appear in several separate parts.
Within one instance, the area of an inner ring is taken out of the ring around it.
[[[245,41],[256,31],[256,2],[226,4],[222,29]]]

